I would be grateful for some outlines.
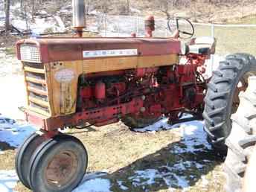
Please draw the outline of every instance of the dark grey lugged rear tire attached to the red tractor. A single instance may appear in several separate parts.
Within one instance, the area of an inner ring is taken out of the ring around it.
[[[213,72],[205,96],[205,132],[214,149],[226,155],[225,139],[231,132],[230,117],[239,105],[239,92],[248,86],[248,77],[256,71],[256,60],[250,54],[232,54]]]

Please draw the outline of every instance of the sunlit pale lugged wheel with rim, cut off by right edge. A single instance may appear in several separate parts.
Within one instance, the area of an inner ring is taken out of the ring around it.
[[[228,156],[224,165],[227,176],[226,190],[255,191],[256,76],[249,78],[246,92],[240,93],[240,105],[231,119],[231,134],[225,141],[228,146]]]

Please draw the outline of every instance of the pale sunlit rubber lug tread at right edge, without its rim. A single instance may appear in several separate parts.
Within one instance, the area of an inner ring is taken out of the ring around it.
[[[255,85],[249,82],[246,92],[240,94],[240,105],[237,112],[232,115],[231,134],[225,141],[228,146],[228,155],[224,163],[227,192],[242,192],[246,166],[256,144],[256,129],[248,128],[256,121],[256,106],[248,99],[256,98],[256,93],[253,92],[256,89],[253,86]]]

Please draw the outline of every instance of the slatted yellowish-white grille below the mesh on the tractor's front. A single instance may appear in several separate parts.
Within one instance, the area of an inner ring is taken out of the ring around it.
[[[42,63],[23,62],[28,90],[28,106],[34,112],[50,115],[45,67]]]

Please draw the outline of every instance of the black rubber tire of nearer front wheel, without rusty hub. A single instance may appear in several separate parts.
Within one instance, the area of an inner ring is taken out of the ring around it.
[[[45,167],[48,166],[49,161],[58,153],[60,150],[71,150],[77,156],[77,175],[74,176],[66,185],[62,188],[48,185],[45,180]],[[80,181],[86,172],[88,159],[87,152],[83,147],[83,144],[74,140],[56,141],[53,140],[45,145],[45,147],[36,154],[34,159],[31,159],[31,185],[33,191],[36,192],[68,192],[72,191]],[[83,169],[81,169],[83,167]]]

